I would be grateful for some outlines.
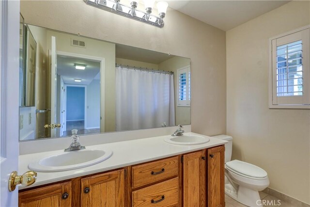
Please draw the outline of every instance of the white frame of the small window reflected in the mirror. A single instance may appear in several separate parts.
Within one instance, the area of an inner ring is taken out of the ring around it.
[[[180,75],[182,74],[181,71],[186,70],[186,100],[180,100]],[[177,106],[178,107],[190,107],[190,80],[189,80],[189,74],[190,74],[190,65],[186,65],[185,67],[177,69]]]

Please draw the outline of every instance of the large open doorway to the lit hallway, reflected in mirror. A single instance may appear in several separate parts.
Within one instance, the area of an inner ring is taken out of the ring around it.
[[[76,67],[76,66],[81,67]],[[101,67],[103,62],[75,57],[72,53],[57,55],[57,122],[59,136],[100,133]]]

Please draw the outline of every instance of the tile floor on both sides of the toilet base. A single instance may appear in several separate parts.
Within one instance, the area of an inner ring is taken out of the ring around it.
[[[267,193],[263,191],[260,191],[260,196],[261,196],[263,204],[265,204],[263,207],[293,207],[292,205],[279,200],[279,198],[268,195]],[[279,203],[278,203],[278,200],[279,200]],[[247,207],[237,202],[236,200],[234,200],[233,198],[229,197],[226,194],[225,194],[225,204],[226,204],[226,207]]]

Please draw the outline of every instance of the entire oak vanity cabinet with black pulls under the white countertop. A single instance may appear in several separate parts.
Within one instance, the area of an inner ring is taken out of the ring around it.
[[[225,207],[224,145],[21,190],[20,207]]]

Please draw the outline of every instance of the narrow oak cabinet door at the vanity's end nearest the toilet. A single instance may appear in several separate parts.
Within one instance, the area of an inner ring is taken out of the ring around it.
[[[224,156],[224,146],[208,149],[208,207],[225,207]]]

